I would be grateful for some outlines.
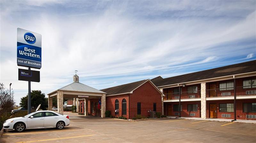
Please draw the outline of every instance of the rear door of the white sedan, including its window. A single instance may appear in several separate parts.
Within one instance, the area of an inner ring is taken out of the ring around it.
[[[59,118],[60,116],[55,113],[45,112],[44,127],[55,127]]]

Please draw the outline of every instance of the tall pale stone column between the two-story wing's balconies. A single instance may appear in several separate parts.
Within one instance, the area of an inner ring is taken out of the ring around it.
[[[206,119],[206,83],[201,83],[201,118]]]

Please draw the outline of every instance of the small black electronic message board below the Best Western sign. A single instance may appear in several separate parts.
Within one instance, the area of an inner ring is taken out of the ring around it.
[[[19,68],[19,81],[40,82],[40,71]]]

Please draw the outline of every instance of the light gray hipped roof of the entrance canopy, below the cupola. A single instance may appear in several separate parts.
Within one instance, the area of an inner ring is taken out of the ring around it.
[[[80,92],[92,92],[92,93],[102,93],[105,94],[105,92],[100,91],[98,89],[92,88],[90,86],[87,86],[80,82],[73,82],[71,84],[68,84],[58,90],[69,90],[69,91],[80,91]]]

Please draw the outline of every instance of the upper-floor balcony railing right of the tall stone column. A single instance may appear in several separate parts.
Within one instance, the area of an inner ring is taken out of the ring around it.
[[[256,95],[256,88],[253,86],[237,86],[236,96]],[[206,89],[206,97],[225,97],[234,96],[234,87],[221,89]]]

